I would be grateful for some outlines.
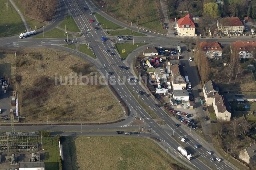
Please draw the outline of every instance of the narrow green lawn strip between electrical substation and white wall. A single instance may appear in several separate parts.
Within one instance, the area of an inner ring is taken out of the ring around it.
[[[59,168],[59,147],[56,137],[43,137],[45,169],[56,170]]]

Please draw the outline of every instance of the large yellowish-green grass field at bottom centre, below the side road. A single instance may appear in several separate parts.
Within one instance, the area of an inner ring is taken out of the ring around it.
[[[172,169],[169,163],[188,169],[149,139],[110,136],[65,137],[63,148],[64,170]]]

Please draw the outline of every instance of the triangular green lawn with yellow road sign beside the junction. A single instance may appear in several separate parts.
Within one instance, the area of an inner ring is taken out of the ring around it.
[[[146,45],[146,44],[147,43],[145,43],[145,44],[144,43],[138,43],[138,44],[134,43],[134,45],[132,45],[132,43],[117,43],[115,45],[115,47],[116,47],[116,50],[118,51],[118,53],[120,54],[120,56],[125,59],[127,57],[127,55],[129,53],[131,53],[133,50],[135,50],[137,47]],[[125,50],[125,53],[122,53],[122,50]]]

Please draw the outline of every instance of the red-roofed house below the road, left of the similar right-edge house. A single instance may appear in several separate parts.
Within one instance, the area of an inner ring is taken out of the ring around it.
[[[204,41],[198,46],[207,58],[222,58],[222,46],[217,41]]]

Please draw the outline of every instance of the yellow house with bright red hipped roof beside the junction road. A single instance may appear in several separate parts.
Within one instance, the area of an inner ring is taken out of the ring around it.
[[[195,36],[195,22],[190,14],[178,19],[177,32],[179,36]]]

